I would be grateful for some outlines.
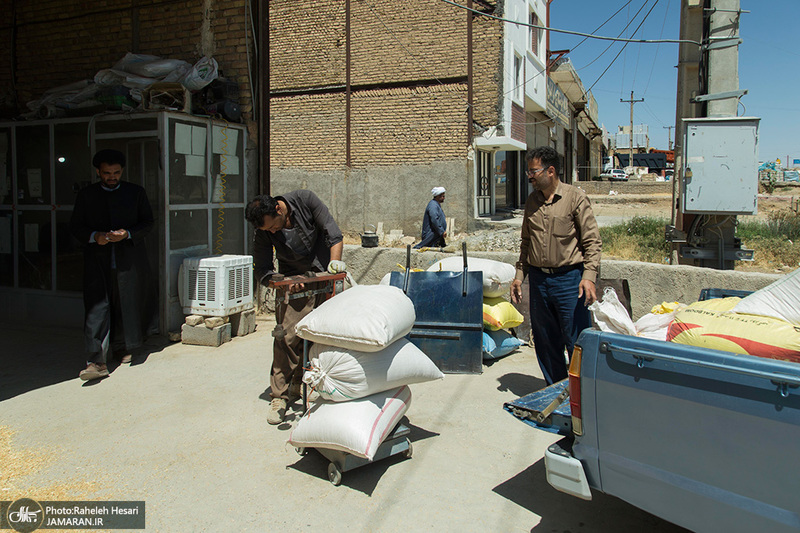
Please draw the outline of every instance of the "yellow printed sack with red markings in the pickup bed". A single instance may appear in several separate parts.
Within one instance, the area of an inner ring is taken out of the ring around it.
[[[731,312],[740,298],[696,302],[675,315],[667,340],[800,363],[800,326]]]

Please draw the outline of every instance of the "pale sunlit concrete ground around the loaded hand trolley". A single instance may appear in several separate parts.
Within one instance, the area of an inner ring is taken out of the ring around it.
[[[164,532],[682,531],[547,484],[542,455],[558,437],[502,409],[543,385],[527,348],[482,375],[413,385],[413,458],[334,487],[319,454],[285,444],[295,415],[266,424],[273,325],[216,349],[152,344],[94,384],[76,377],[79,331],[0,327],[0,429],[14,432],[0,469],[32,464],[0,471],[0,499],[145,500],[147,530]]]

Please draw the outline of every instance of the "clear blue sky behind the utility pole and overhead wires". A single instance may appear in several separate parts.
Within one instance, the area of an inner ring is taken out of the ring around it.
[[[750,12],[743,13],[740,22],[739,88],[748,93],[741,99],[739,115],[761,119],[759,159],[780,159],[784,165],[787,156],[800,159],[800,0],[740,3],[742,10]],[[680,6],[680,0],[554,0],[550,26],[610,37],[623,32],[623,37],[631,38],[644,18],[633,38],[678,39]],[[551,33],[550,49],[570,49],[568,57],[584,87],[594,85],[591,91],[601,124],[615,133],[618,126],[630,123],[630,104],[620,99],[629,100],[633,90],[634,99],[644,98],[634,104],[634,124],[648,125],[650,145],[667,149],[670,130],[666,127],[675,125],[678,45],[630,43],[612,64],[625,43],[614,43],[603,53],[610,41],[582,40]],[[674,142],[674,128],[671,137]]]

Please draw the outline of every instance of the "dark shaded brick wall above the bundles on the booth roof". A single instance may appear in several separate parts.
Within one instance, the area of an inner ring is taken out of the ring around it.
[[[17,91],[20,105],[53,87],[91,79],[132,50],[196,62],[207,51],[239,83],[246,119],[252,104],[247,79],[245,13],[241,0],[41,0],[17,2]],[[204,16],[208,18],[203,28]],[[135,21],[138,18],[138,32]],[[0,32],[0,99],[11,94],[11,30]],[[251,42],[252,45],[252,42]],[[252,58],[255,62],[255,57]],[[255,64],[255,63],[254,63]],[[7,110],[7,116],[13,116]]]

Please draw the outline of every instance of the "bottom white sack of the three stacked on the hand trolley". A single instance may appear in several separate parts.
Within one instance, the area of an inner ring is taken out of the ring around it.
[[[411,390],[405,386],[350,402],[319,400],[292,430],[289,444],[341,450],[371,461],[410,404]]]

